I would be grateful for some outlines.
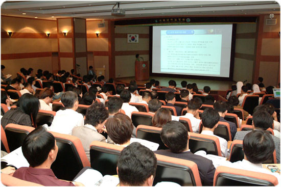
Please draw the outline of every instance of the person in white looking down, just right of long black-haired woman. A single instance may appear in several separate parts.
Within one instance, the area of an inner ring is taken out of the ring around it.
[[[53,105],[51,103],[51,101],[53,100],[53,96],[54,92],[50,88],[44,88],[40,91],[40,110],[53,111]]]

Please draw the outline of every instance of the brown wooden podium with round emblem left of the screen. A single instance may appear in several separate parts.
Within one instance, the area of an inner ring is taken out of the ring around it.
[[[149,79],[148,61],[135,61],[135,80],[146,81]]]

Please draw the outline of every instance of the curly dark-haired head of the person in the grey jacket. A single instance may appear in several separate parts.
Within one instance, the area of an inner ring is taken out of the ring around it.
[[[87,109],[85,115],[85,124],[90,124],[100,130],[108,118],[108,111],[105,109],[104,105],[99,102],[94,102]]]

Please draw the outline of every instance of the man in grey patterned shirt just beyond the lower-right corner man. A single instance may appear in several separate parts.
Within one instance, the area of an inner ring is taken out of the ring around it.
[[[253,129],[266,130],[273,123],[272,117],[264,110],[255,110],[253,113]],[[233,140],[243,140],[247,133],[250,133],[252,130],[242,130],[238,131]],[[275,150],[276,150],[276,160],[277,163],[280,163],[280,139],[271,135],[273,139]]]

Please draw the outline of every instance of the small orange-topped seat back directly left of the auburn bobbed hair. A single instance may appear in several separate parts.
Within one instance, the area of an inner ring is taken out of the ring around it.
[[[152,126],[152,117],[154,114],[147,113],[147,112],[132,112],[132,122],[135,127],[137,125],[148,125]]]

